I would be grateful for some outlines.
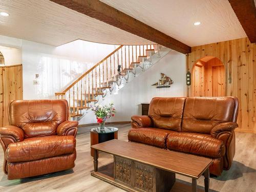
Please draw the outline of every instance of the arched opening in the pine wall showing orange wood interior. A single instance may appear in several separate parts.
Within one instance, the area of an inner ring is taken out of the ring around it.
[[[219,58],[209,56],[198,60],[193,67],[191,75],[192,96],[226,96],[225,67]]]

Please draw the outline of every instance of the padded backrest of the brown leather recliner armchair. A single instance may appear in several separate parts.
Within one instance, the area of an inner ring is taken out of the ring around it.
[[[23,129],[25,138],[56,135],[68,113],[67,100],[14,100],[9,104],[9,122]]]

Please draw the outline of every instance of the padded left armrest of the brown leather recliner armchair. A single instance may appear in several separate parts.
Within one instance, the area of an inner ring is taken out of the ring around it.
[[[6,125],[0,127],[0,135],[1,136],[12,136],[16,142],[20,142],[24,140],[24,131],[17,126]]]

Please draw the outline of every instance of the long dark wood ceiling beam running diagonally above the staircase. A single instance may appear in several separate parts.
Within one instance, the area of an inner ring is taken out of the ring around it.
[[[96,18],[124,31],[133,33],[180,53],[190,53],[191,48],[142,22],[98,0],[50,0],[79,13]]]

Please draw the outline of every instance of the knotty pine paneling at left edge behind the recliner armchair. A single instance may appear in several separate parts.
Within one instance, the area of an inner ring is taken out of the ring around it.
[[[0,66],[0,126],[8,125],[8,104],[23,99],[22,65]]]

